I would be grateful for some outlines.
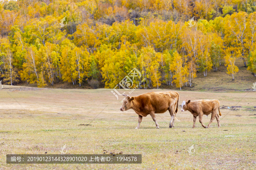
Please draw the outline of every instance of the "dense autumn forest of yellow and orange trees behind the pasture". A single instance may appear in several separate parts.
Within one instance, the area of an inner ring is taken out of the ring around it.
[[[114,88],[137,68],[139,88],[181,90],[221,64],[235,79],[238,60],[256,76],[256,0],[0,1],[6,85]]]

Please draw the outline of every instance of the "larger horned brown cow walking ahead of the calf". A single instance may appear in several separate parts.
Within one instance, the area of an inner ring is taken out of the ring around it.
[[[174,127],[174,119],[178,111],[178,103],[180,99],[180,96],[177,92],[151,92],[135,97],[130,97],[127,95],[124,96],[125,100],[122,103],[120,111],[133,109],[139,115],[139,123],[136,129],[140,127],[142,117],[145,117],[148,114],[150,114],[156,123],[157,128],[159,128],[155,113],[165,113],[167,110],[172,116],[169,127]]]

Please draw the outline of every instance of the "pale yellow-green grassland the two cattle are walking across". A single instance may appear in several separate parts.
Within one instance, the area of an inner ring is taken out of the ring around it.
[[[247,85],[250,88],[250,85]],[[0,169],[256,169],[256,92],[178,91],[185,99],[219,99],[221,127],[209,129],[188,112],[177,113],[169,128],[169,112],[158,114],[160,129],[150,116],[140,129],[137,114],[119,111],[121,100],[109,89],[11,88],[0,91]],[[136,90],[131,96],[150,91]],[[122,91],[120,91],[122,92]],[[231,110],[232,106],[241,106]],[[208,124],[210,116],[204,117]],[[81,124],[90,124],[83,126]],[[6,164],[6,154],[102,154],[103,150],[142,154],[142,164]],[[194,144],[195,153],[189,155]]]

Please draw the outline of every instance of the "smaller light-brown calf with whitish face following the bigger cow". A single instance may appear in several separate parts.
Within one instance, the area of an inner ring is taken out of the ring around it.
[[[208,128],[210,127],[214,117],[216,118],[217,122],[218,122],[218,127],[221,127],[220,124],[220,119],[218,116],[217,111],[219,111],[219,115],[221,116],[221,111],[220,111],[220,101],[218,101],[217,99],[213,99],[213,100],[196,100],[196,101],[183,101],[182,105],[181,105],[181,111],[190,111],[190,113],[192,113],[192,115],[194,116],[194,124],[193,127],[195,127],[195,121],[196,121],[196,117],[199,116],[199,122],[202,124],[202,126],[204,128]],[[206,127],[203,122],[202,122],[202,118],[203,115],[209,115],[210,113],[212,113],[212,117],[211,120],[209,122],[209,125]]]

